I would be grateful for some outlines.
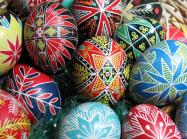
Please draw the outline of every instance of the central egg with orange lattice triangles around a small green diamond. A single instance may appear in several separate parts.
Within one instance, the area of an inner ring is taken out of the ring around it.
[[[92,37],[80,45],[70,73],[88,99],[115,104],[124,95],[129,66],[123,49],[111,38]]]

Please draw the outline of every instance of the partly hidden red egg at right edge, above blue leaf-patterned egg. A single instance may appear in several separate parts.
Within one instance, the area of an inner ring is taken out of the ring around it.
[[[166,32],[167,40],[176,40],[187,43],[187,36],[185,36],[184,32],[179,28],[170,25],[169,27],[165,26],[164,30]]]

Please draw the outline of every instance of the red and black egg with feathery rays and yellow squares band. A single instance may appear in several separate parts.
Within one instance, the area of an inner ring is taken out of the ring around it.
[[[78,42],[73,16],[57,2],[32,10],[24,36],[29,56],[47,73],[57,73],[69,63]]]

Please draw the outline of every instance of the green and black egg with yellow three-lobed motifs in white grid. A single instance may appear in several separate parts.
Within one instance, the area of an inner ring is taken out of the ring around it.
[[[114,34],[114,40],[125,50],[130,63],[134,63],[145,49],[163,39],[163,28],[153,19],[135,18],[120,25]]]

